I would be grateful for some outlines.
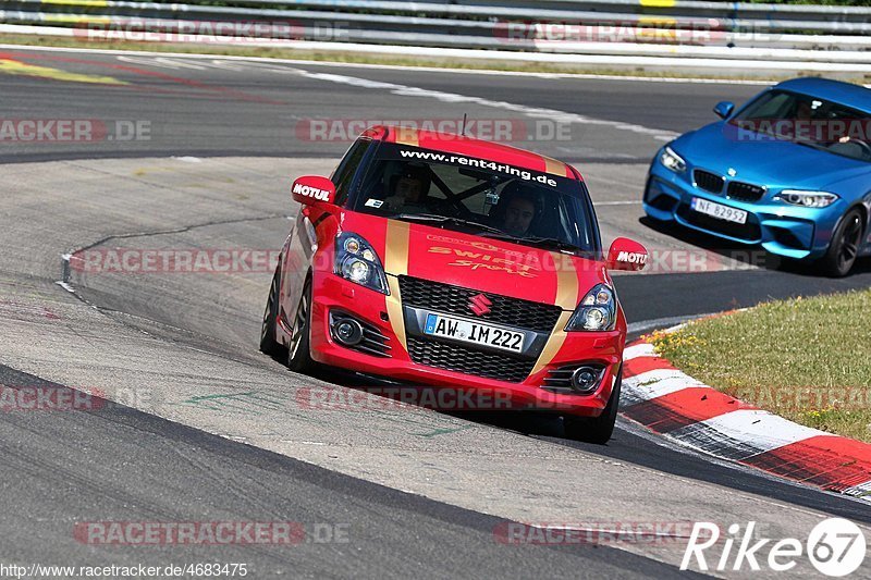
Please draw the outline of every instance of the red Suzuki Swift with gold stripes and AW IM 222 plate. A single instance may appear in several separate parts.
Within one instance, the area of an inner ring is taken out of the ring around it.
[[[565,163],[505,145],[367,129],[330,178],[299,177],[260,349],[306,372],[349,369],[500,408],[563,415],[566,434],[614,428],[626,340],[592,202]]]

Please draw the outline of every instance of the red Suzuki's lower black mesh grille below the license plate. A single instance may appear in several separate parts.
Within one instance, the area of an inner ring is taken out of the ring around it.
[[[436,367],[486,379],[520,383],[536,366],[535,359],[473,350],[465,346],[408,337],[408,354],[418,365]]]

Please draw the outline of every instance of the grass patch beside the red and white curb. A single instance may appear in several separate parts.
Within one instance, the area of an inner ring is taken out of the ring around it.
[[[871,442],[871,289],[777,300],[654,333],[695,379],[798,423]]]

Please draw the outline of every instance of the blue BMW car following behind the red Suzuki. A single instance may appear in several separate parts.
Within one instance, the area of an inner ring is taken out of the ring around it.
[[[846,275],[871,255],[871,89],[822,78],[768,88],[660,149],[643,207],[732,242]]]

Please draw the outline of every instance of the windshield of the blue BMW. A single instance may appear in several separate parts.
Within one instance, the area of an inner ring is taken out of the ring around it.
[[[817,97],[770,90],[729,121],[738,138],[792,140],[871,162],[871,115]]]

